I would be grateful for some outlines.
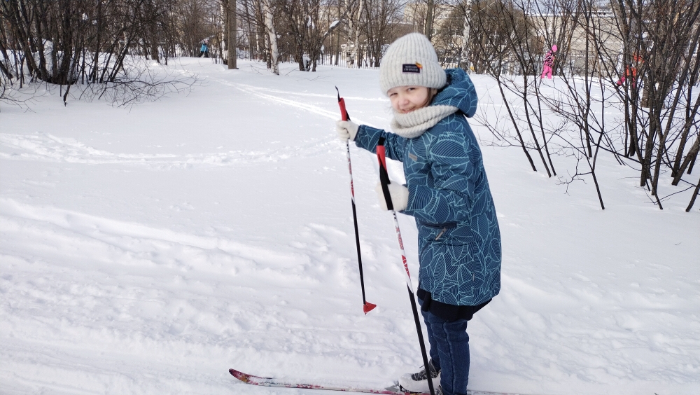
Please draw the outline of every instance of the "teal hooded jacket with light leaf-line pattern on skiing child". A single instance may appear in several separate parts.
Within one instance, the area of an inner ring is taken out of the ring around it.
[[[403,162],[408,207],[418,227],[419,284],[433,300],[479,305],[500,291],[500,230],[479,143],[465,116],[476,112],[474,84],[462,69],[448,69],[447,83],[430,105],[460,111],[419,137],[361,125],[355,143]]]

